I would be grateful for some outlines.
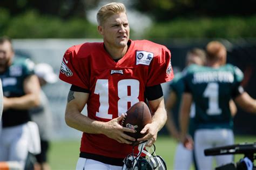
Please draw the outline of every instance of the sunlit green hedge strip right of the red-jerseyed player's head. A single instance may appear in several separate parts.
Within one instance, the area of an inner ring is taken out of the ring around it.
[[[255,38],[256,15],[251,17],[177,18],[154,23],[146,38]]]

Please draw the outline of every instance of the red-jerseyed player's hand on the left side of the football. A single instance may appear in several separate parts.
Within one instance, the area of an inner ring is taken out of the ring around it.
[[[124,132],[135,133],[135,131],[119,124],[119,122],[125,118],[125,114],[126,113],[123,113],[120,117],[107,121],[105,123],[106,129],[103,134],[111,139],[117,140],[122,144],[132,144],[132,141],[136,141],[136,139],[130,137]]]

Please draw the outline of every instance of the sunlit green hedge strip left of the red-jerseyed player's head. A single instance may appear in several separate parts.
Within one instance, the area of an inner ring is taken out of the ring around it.
[[[99,38],[97,26],[83,18],[62,19],[30,10],[10,17],[0,9],[0,36],[11,38]]]

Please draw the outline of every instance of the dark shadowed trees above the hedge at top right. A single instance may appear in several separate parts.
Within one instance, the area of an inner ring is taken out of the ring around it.
[[[255,15],[256,1],[245,0],[138,0],[134,8],[147,12],[157,21],[177,17],[223,17]]]

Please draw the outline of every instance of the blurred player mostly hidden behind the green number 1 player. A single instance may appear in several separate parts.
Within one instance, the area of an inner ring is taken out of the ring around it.
[[[206,54],[204,50],[194,48],[187,52],[186,55],[186,66],[191,64],[204,65],[206,60]],[[186,70],[186,68],[184,69]],[[166,127],[173,138],[179,141],[179,125],[178,123],[178,113],[180,107],[180,99],[182,93],[184,92],[184,83],[182,80],[183,73],[176,73],[176,76],[170,83],[170,94],[166,100],[166,109],[168,111]],[[193,137],[193,117],[194,117],[194,107],[191,107],[191,119],[190,119],[190,135]],[[185,170],[190,169],[193,161],[193,153],[191,149],[187,149],[179,142],[176,148],[176,154],[174,157],[174,170]]]

